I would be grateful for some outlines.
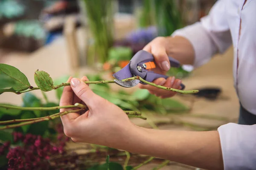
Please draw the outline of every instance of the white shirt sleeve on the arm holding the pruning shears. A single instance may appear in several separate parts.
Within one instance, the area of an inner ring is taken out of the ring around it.
[[[216,53],[223,53],[232,45],[224,0],[218,0],[200,22],[176,30],[172,36],[188,39],[195,50],[195,68],[206,64]]]

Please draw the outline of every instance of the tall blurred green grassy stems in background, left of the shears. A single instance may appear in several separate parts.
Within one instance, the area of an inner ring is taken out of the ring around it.
[[[87,54],[87,65],[103,64],[113,45],[113,0],[82,0],[92,42]]]

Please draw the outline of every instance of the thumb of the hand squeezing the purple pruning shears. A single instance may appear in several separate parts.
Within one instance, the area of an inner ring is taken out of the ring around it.
[[[152,46],[151,53],[153,54],[157,65],[163,71],[169,71],[170,62],[169,62],[168,55],[166,53],[166,48],[162,44],[156,43],[154,46]]]

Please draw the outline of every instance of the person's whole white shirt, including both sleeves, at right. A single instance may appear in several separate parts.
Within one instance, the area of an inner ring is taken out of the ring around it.
[[[183,36],[191,42],[195,68],[233,44],[234,87],[241,105],[256,115],[256,0],[244,2],[218,0],[200,22],[181,28],[172,36]],[[219,127],[218,132],[224,169],[256,170],[256,125],[229,123]]]

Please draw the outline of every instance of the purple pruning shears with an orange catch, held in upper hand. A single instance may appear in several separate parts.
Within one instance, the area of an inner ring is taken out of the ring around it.
[[[171,67],[180,67],[180,62],[178,62],[176,59],[172,57],[168,57],[170,61]],[[140,76],[141,78],[145,79],[148,82],[153,82],[154,79],[163,77],[165,79],[168,78],[168,76],[163,74],[157,74],[154,73],[154,71],[149,71],[150,69],[156,68],[156,64],[154,61],[154,56],[144,50],[138,51],[134,57],[130,60],[128,65],[126,65],[121,70],[117,71],[115,74],[113,74],[113,77],[116,79],[114,80],[116,84],[125,87],[125,88],[131,88],[136,86],[137,84],[141,83],[145,85],[144,82],[141,82],[139,79],[131,80],[124,82],[122,79],[128,79],[130,77],[136,77]],[[181,84],[182,90],[185,88],[185,85]]]

